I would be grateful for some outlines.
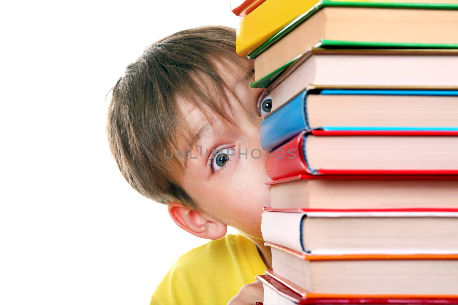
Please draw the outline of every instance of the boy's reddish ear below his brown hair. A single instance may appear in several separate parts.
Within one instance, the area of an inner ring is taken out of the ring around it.
[[[207,239],[220,239],[226,235],[227,225],[205,212],[177,202],[170,202],[167,208],[174,223],[192,235]]]

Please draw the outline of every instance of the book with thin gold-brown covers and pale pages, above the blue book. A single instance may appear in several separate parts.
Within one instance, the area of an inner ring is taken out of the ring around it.
[[[456,89],[457,69],[457,49],[312,48],[250,86],[272,84],[267,91],[279,101],[289,100],[307,85]]]

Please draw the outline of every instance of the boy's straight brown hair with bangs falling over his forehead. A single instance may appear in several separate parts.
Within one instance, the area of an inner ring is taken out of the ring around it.
[[[113,87],[110,150],[126,181],[147,198],[196,207],[177,183],[186,159],[169,158],[170,151],[186,148],[189,155],[194,149],[196,130],[182,103],[201,111],[209,123],[215,118],[234,123],[231,102],[240,101],[224,76],[230,69],[246,70],[235,53],[235,36],[233,28],[208,26],[164,37],[129,64]]]

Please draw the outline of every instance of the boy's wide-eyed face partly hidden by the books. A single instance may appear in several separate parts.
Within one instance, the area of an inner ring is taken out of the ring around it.
[[[192,157],[196,159],[187,161],[184,176],[178,182],[195,200],[198,210],[262,240],[261,214],[263,207],[270,206],[270,186],[264,184],[270,180],[264,167],[267,151],[262,150],[259,137],[262,115],[266,112],[259,109],[258,98],[263,89],[250,88],[253,78],[245,76],[253,69],[253,63],[249,59],[241,61],[246,70],[229,62],[233,69],[223,70],[224,81],[246,109],[245,112],[228,95],[234,126],[211,115],[212,129],[201,111],[188,103],[181,104],[192,133],[200,130],[196,145],[202,145],[202,153],[200,149],[193,151]],[[212,150],[217,152],[212,154]]]

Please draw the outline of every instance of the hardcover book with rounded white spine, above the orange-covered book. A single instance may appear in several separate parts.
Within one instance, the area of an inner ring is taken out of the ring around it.
[[[297,252],[458,254],[458,209],[270,209],[262,237]]]

